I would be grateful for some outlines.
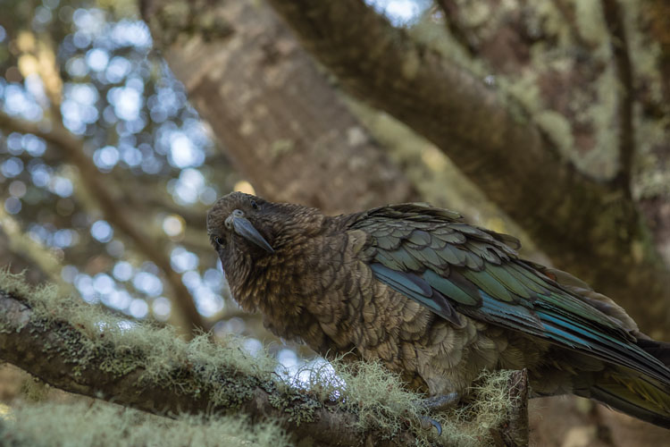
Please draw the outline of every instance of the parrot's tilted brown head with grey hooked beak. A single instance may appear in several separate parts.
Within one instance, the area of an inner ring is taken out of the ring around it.
[[[223,268],[235,268],[245,258],[276,256],[276,250],[320,228],[323,215],[315,208],[272,203],[242,192],[219,198],[207,213],[207,232]]]

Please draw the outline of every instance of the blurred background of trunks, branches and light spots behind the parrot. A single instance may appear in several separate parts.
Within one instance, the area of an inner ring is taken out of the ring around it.
[[[329,213],[425,200],[670,335],[662,1],[0,4],[0,261],[31,281],[296,370],[322,360],[239,311],[206,209],[230,190]],[[542,445],[660,439],[535,405]]]

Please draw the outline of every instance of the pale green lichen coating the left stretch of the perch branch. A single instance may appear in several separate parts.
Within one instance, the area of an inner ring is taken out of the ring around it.
[[[58,350],[46,341],[44,354],[66,358],[75,375],[96,365],[114,376],[138,370],[138,384],[158,384],[180,394],[208,395],[213,407],[235,408],[256,386],[272,383],[276,362],[266,354],[247,355],[239,338],[212,342],[200,335],[192,342],[180,339],[172,328],[136,323],[128,328],[80,299],[63,297],[52,286],[31,289],[21,275],[0,271],[4,291],[24,297],[32,308],[30,322],[59,339]],[[71,327],[55,324],[68,321]],[[0,319],[0,331],[12,330]],[[41,337],[41,333],[35,336]],[[243,380],[248,377],[248,381]]]

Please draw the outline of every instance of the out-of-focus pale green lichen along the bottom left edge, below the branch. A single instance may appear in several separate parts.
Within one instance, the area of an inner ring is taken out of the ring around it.
[[[176,420],[97,401],[22,405],[4,415],[4,445],[290,445],[272,423],[251,425],[243,417],[183,416]]]

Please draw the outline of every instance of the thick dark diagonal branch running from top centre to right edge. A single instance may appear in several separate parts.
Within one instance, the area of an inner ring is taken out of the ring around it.
[[[670,273],[628,196],[579,173],[501,92],[362,0],[269,3],[343,87],[448,154],[558,267],[668,334]],[[641,311],[639,296],[655,310]]]

